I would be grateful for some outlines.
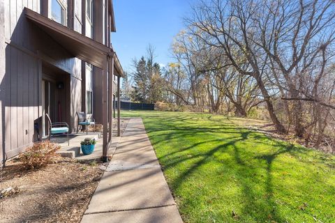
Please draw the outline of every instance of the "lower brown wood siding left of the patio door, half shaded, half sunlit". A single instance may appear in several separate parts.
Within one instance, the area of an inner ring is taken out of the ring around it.
[[[6,47],[4,146],[8,157],[29,146],[34,139],[34,120],[38,114],[38,59],[15,47]],[[2,114],[3,115],[3,114]]]

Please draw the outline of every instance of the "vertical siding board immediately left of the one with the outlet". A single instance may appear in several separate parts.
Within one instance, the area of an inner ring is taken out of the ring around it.
[[[23,55],[22,51],[17,52],[17,145],[23,146]]]

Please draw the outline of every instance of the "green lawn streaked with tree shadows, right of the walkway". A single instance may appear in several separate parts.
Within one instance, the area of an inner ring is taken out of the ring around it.
[[[335,222],[335,157],[183,112],[140,116],[184,222]]]

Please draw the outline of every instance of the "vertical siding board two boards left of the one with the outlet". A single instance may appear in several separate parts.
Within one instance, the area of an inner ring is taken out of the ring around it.
[[[17,148],[17,49],[10,48],[10,149]]]

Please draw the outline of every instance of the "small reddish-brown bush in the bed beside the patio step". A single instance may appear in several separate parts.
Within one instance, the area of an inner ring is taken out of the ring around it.
[[[19,159],[27,169],[40,169],[58,156],[56,151],[60,148],[61,146],[50,141],[41,141],[28,147],[25,153],[20,154]]]

